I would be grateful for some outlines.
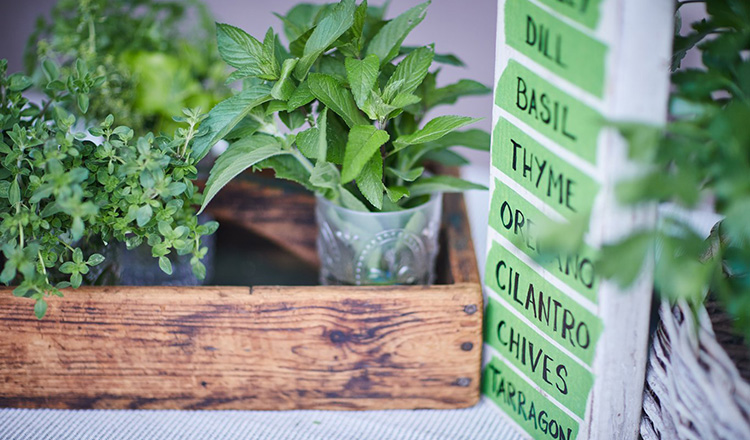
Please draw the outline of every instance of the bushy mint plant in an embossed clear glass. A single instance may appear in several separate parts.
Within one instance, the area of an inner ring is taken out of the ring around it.
[[[441,193],[483,187],[430,174],[427,163],[465,163],[450,147],[487,150],[490,137],[457,131],[469,117],[424,122],[437,106],[489,92],[470,80],[437,87],[433,62],[460,61],[402,45],[428,5],[385,20],[366,1],[300,4],[279,16],[288,46],[273,29],[256,39],[217,24],[219,53],[243,87],[211,110],[193,147],[200,159],[218,140],[231,142],[203,208],[245,169],[273,169],[317,195],[323,283],[431,282]]]

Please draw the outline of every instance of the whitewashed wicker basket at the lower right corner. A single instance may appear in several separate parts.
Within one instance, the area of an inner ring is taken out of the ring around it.
[[[750,439],[750,356],[729,317],[714,303],[695,314],[687,303],[662,303],[659,314],[641,436]]]

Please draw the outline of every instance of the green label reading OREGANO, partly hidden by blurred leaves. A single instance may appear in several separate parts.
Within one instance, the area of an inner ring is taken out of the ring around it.
[[[573,290],[596,303],[599,285],[594,273],[596,252],[586,244],[577,253],[543,252],[539,249],[539,233],[550,224],[551,220],[539,209],[495,180],[490,226]]]

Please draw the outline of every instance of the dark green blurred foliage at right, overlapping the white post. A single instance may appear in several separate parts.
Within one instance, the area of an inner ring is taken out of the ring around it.
[[[618,193],[627,203],[670,201],[688,209],[710,201],[724,219],[709,240],[685,220],[663,219],[656,230],[604,249],[600,270],[619,273],[627,285],[656,243],[661,295],[699,303],[710,291],[750,340],[750,3],[715,0],[706,8],[708,19],[675,36],[671,122],[665,129],[620,126],[631,156],[649,171]],[[693,47],[704,67],[677,70]]]

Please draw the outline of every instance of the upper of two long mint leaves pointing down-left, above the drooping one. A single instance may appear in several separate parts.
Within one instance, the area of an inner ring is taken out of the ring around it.
[[[271,87],[258,84],[218,103],[201,123],[206,133],[196,137],[192,156],[196,162],[208,154],[211,147],[229,133],[256,106],[271,100]]]

